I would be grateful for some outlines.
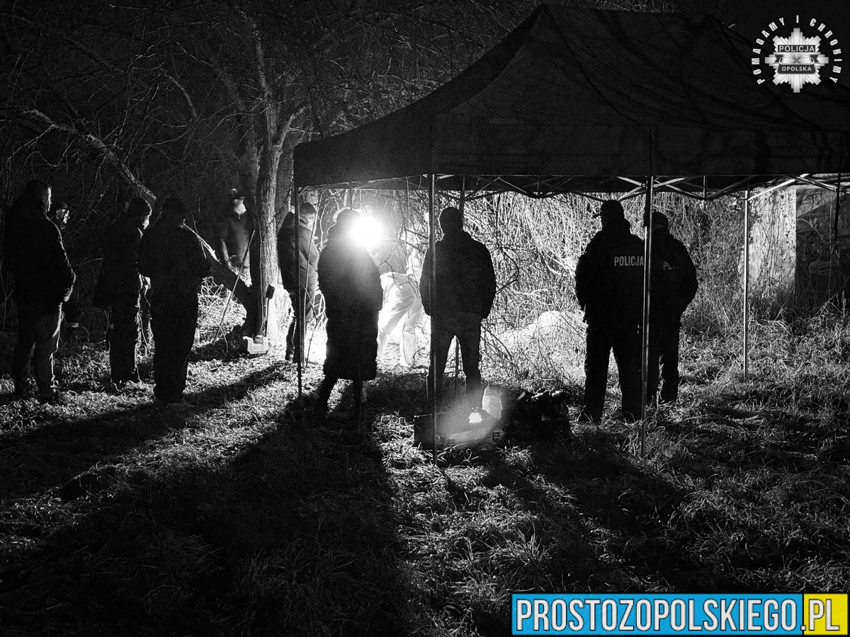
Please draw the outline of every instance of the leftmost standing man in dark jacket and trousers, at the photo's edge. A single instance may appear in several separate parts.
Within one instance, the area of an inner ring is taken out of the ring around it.
[[[50,195],[48,183],[26,183],[8,211],[3,241],[3,267],[14,279],[12,295],[18,310],[11,369],[14,391],[19,396],[29,394],[33,360],[40,403],[60,401],[54,353],[59,348],[62,302],[71,296],[77,279],[59,228],[48,219]]]

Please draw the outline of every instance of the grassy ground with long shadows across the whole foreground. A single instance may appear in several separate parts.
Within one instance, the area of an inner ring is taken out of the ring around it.
[[[436,467],[422,370],[358,431],[344,394],[314,426],[279,355],[201,347],[183,419],[82,347],[65,406],[0,386],[0,633],[496,635],[519,590],[846,590],[848,335],[759,324],[747,382],[739,341],[689,341],[643,458],[606,420]]]

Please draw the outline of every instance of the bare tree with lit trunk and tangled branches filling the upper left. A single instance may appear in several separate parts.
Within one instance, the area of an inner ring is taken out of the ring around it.
[[[201,223],[238,181],[257,229],[252,289],[226,268],[216,273],[237,285],[248,329],[258,333],[265,291],[278,280],[294,146],[381,116],[455,75],[526,9],[501,5],[14,3],[0,9],[8,87],[0,117],[7,132],[18,131],[8,133],[12,154],[34,140],[76,146],[116,172],[127,194],[195,200]],[[276,327],[269,321],[269,335]]]

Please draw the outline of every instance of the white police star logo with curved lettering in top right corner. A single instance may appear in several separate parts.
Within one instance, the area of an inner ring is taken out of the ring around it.
[[[764,76],[770,72],[762,65],[773,70],[774,84],[788,84],[794,93],[800,93],[806,84],[819,85],[821,76],[838,82],[842,49],[835,34],[815,18],[802,22],[799,15],[794,20],[779,18],[762,31],[756,43],[752,52],[758,57],[751,63],[759,84],[768,81]]]

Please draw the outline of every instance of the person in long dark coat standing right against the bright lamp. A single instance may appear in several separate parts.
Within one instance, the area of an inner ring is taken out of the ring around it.
[[[319,289],[327,315],[325,378],[317,392],[319,415],[326,412],[337,380],[346,378],[354,381],[354,412],[359,418],[363,383],[377,374],[377,314],[383,292],[371,256],[354,240],[359,218],[350,208],[339,211],[319,256]]]

